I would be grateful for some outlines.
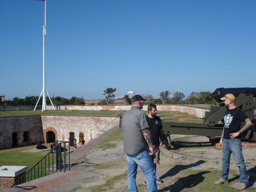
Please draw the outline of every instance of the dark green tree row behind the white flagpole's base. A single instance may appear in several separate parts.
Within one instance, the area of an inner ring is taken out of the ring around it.
[[[70,99],[61,97],[61,96],[52,96],[51,97],[53,105],[84,105],[83,97],[73,96]],[[0,106],[33,106],[36,105],[38,101],[38,96],[26,96],[24,99],[15,97],[12,100],[2,101],[0,99]],[[42,104],[43,98],[41,97],[39,100],[39,105]],[[51,105],[49,97],[46,98],[47,105]]]

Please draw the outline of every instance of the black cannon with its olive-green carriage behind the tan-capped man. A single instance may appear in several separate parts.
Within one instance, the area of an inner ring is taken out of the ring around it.
[[[171,140],[169,135],[171,134],[206,136],[210,140],[221,137],[223,130],[223,123],[221,122],[226,108],[223,105],[219,105],[219,102],[221,102],[220,98],[227,93],[232,93],[236,96],[236,107],[241,108],[253,122],[253,126],[242,133],[241,137],[247,141],[255,142],[256,119],[254,115],[254,98],[256,97],[256,88],[218,88],[212,93],[212,98],[217,101],[217,105],[210,106],[209,111],[206,111],[202,118],[202,123],[162,122],[166,148],[170,147]],[[244,124],[245,122],[242,122],[241,127]]]

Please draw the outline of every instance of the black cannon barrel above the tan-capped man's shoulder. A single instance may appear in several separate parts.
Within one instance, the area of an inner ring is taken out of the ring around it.
[[[245,93],[247,96],[253,94],[253,97],[256,97],[256,88],[218,88],[212,93],[212,98],[217,102],[221,102],[221,97],[224,97],[228,93],[233,94],[235,97],[239,96],[240,93]]]

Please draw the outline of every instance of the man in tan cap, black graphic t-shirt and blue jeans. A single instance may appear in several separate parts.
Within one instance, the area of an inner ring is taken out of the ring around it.
[[[224,128],[221,135],[220,146],[222,150],[222,172],[221,178],[215,182],[216,185],[228,183],[228,172],[230,167],[230,155],[234,156],[236,165],[239,167],[240,186],[238,190],[242,191],[246,188],[248,177],[242,154],[241,136],[240,134],[250,128],[253,123],[248,116],[240,108],[235,105],[235,96],[226,94],[221,98],[224,101],[227,111],[224,116]],[[241,122],[245,121],[245,125],[240,129]]]

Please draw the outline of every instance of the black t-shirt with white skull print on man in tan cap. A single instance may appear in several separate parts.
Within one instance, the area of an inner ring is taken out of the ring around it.
[[[241,121],[248,116],[240,108],[227,109],[224,116],[224,139],[229,140],[230,134],[240,130]],[[240,135],[236,138],[240,138]]]

